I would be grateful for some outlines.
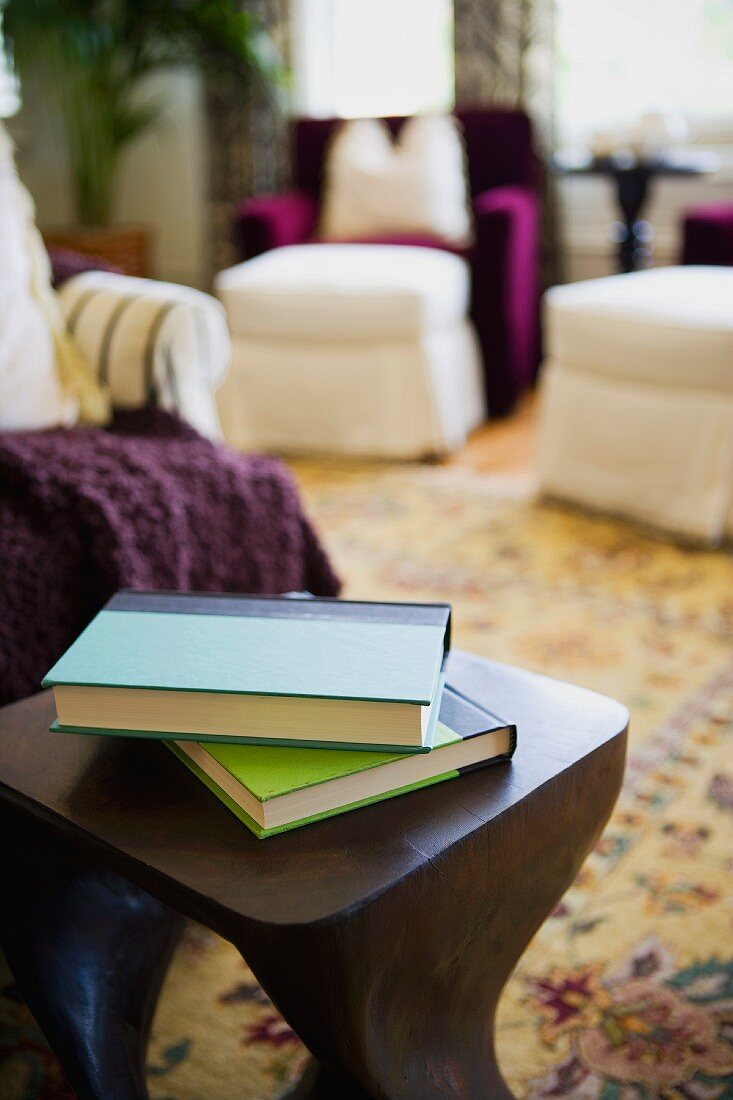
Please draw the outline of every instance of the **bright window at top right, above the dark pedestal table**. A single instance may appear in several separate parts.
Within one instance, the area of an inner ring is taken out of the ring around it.
[[[733,131],[733,0],[558,0],[557,15],[564,141],[659,110]]]

